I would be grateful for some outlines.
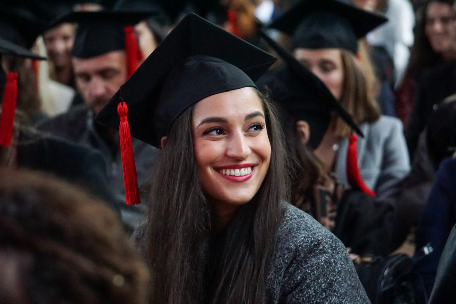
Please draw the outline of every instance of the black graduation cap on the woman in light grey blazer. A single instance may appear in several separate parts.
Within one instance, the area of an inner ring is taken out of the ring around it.
[[[358,52],[358,39],[388,21],[341,0],[302,0],[270,27],[293,36],[293,47],[344,48]]]

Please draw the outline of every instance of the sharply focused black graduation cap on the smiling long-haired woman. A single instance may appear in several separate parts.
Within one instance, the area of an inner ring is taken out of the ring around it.
[[[160,147],[174,121],[209,96],[255,87],[275,57],[190,13],[166,36],[97,115],[119,128],[128,105],[131,136]]]

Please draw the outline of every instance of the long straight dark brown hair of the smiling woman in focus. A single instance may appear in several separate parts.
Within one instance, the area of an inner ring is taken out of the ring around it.
[[[288,182],[275,110],[257,94],[271,144],[269,169],[257,194],[240,207],[218,241],[211,240],[211,204],[195,163],[194,106],[171,127],[152,175],[155,183],[146,237],[152,272],[150,303],[264,303],[267,260],[282,216],[281,203],[287,200]],[[214,242],[220,254],[217,249],[214,253]]]

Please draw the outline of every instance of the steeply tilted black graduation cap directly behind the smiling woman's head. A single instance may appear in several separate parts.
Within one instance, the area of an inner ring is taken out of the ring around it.
[[[318,77],[303,67],[264,31],[259,31],[259,35],[285,61],[285,67],[279,70],[274,75],[273,81],[268,84],[271,96],[296,120],[305,120],[310,125],[311,136],[308,144],[313,149],[316,149],[323,139],[323,135],[331,123],[333,112],[337,113],[356,133],[363,136],[352,116]]]

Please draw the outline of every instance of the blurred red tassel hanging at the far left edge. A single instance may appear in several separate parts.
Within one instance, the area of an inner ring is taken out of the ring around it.
[[[0,146],[10,146],[17,99],[17,73],[9,72],[0,117]]]

